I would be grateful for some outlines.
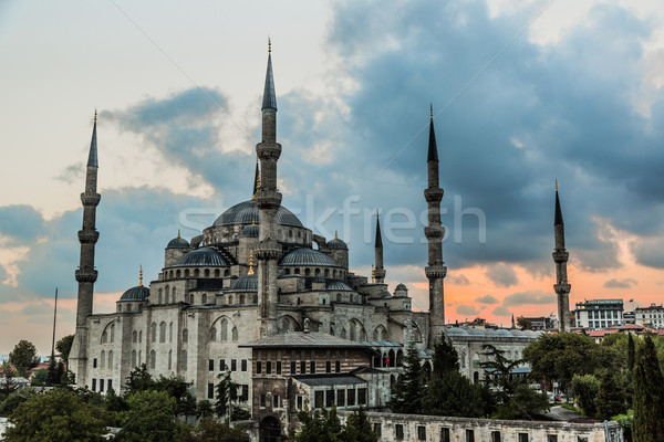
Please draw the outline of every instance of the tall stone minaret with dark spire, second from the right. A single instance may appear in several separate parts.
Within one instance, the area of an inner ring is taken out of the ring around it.
[[[438,147],[434,131],[434,109],[430,108],[429,145],[426,159],[428,187],[424,190],[424,199],[428,206],[428,225],[424,234],[428,241],[428,266],[425,269],[429,280],[429,335],[427,346],[433,348],[445,327],[445,295],[443,280],[447,267],[443,265],[443,236],[445,228],[440,225],[440,201],[444,191],[438,180]]]

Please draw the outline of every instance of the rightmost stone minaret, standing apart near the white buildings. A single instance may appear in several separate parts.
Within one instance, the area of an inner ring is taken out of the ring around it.
[[[558,295],[558,329],[569,332],[570,323],[570,291],[572,286],[567,277],[567,262],[570,253],[564,249],[564,223],[562,222],[562,210],[560,210],[560,198],[558,197],[558,181],[556,181],[556,219],[553,221],[556,232],[556,250],[553,262],[556,263],[556,284],[553,290]]]

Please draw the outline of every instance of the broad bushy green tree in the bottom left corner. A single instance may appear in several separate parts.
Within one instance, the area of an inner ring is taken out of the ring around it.
[[[9,417],[8,442],[103,441],[106,422],[101,407],[69,390],[35,394]]]

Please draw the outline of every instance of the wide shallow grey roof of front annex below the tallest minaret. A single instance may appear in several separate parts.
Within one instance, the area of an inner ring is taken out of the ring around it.
[[[360,348],[367,351],[373,349],[364,343],[355,343],[320,332],[287,332],[267,336],[252,343],[242,344],[241,348]]]

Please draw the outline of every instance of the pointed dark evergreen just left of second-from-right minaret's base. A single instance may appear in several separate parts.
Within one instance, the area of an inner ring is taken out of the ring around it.
[[[415,344],[411,343],[404,359],[404,370],[396,380],[392,390],[392,398],[387,404],[395,413],[416,414],[422,411],[424,392],[419,355]]]

